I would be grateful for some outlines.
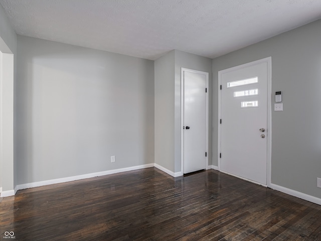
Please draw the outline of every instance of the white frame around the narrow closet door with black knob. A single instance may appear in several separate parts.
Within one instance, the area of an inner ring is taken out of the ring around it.
[[[209,73],[194,69],[181,68],[181,173],[184,174],[184,71],[206,75],[206,170],[209,169]],[[204,90],[205,91],[205,90]]]

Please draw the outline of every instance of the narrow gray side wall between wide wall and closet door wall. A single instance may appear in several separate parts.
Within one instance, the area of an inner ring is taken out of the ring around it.
[[[175,51],[156,59],[155,163],[174,172]]]

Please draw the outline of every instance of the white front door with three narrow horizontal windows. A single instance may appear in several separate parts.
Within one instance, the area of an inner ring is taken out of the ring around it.
[[[268,62],[219,71],[220,170],[267,184]]]

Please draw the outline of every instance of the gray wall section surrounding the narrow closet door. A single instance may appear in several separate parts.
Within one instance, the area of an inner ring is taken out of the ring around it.
[[[212,89],[212,59],[175,50],[175,172],[181,171],[181,68],[209,73],[209,89]],[[209,91],[209,130],[212,123],[212,91]],[[212,133],[209,133],[209,162],[212,160]]]

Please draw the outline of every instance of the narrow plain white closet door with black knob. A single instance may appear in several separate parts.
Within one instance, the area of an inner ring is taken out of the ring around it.
[[[207,168],[208,75],[182,68],[183,173]]]

